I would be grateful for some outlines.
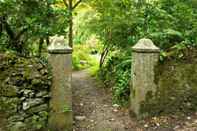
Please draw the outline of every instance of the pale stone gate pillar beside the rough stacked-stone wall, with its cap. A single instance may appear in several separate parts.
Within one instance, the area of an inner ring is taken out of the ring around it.
[[[72,131],[72,49],[64,40],[56,37],[49,47],[49,63],[52,66],[52,88],[50,100],[49,129]]]

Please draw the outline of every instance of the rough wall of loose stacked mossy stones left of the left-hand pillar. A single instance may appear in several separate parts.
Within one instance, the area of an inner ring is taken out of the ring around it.
[[[14,55],[0,57],[0,131],[44,130],[51,86],[47,63]]]

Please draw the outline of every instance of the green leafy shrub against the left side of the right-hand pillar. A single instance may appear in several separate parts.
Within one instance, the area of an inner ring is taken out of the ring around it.
[[[113,102],[126,105],[130,94],[131,56],[127,57],[127,53],[120,55],[120,52],[107,58],[99,76],[106,87],[112,87]]]

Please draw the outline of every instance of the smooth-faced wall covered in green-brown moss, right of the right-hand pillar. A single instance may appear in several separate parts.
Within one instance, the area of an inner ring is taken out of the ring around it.
[[[168,59],[155,67],[157,89],[146,95],[141,113],[155,116],[197,111],[197,53],[185,58]]]

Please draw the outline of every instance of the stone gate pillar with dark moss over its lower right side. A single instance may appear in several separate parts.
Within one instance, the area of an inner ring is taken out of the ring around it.
[[[159,60],[159,48],[150,39],[141,39],[132,47],[132,83],[131,83],[131,111],[137,118],[148,114],[142,110],[142,103],[148,95],[156,91],[155,65]]]

